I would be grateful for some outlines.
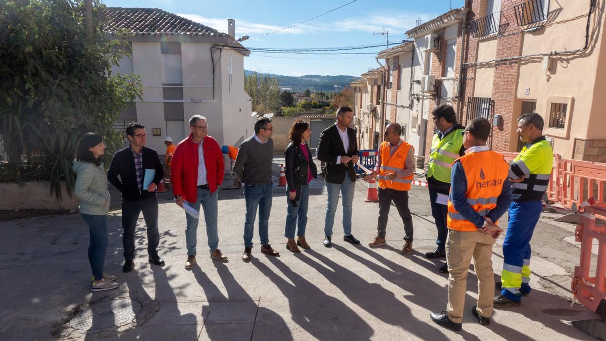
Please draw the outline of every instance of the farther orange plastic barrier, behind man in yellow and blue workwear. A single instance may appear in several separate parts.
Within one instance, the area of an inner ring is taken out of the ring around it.
[[[578,210],[591,197],[604,202],[606,163],[560,159],[557,178],[559,198],[553,201],[565,208]]]

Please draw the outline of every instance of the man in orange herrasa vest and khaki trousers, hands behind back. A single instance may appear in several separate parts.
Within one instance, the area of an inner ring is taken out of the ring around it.
[[[481,325],[490,324],[493,311],[494,273],[492,249],[503,231],[498,220],[511,203],[509,166],[503,155],[488,150],[490,122],[472,120],[464,132],[465,156],[453,163],[448,197],[446,241],[448,304],[446,311],[431,313],[431,320],[455,331],[461,330],[467,274],[473,257],[478,277],[478,304],[471,313]]]

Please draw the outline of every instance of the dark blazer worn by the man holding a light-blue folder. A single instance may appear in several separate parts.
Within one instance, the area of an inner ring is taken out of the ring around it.
[[[143,174],[145,178],[145,169],[155,169],[156,174],[153,178],[153,183],[160,184],[160,180],[164,177],[164,167],[160,162],[158,153],[148,147],[143,147]],[[110,169],[107,171],[107,180],[110,181],[122,193],[124,200],[140,200],[156,195],[156,192],[148,192],[144,188],[139,192],[139,185],[135,175],[135,157],[130,150],[130,146],[118,150],[112,159]],[[118,178],[118,175],[120,178]]]

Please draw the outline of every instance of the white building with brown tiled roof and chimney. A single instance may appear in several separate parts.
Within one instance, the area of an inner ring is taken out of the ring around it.
[[[147,146],[164,154],[164,138],[175,143],[190,133],[188,120],[204,115],[208,134],[221,145],[239,146],[255,118],[244,91],[244,57],[250,52],[228,33],[158,8],[108,7],[104,32],[129,32],[132,56],[113,71],[141,75],[143,100],[121,113],[116,127],[137,121],[149,134]]]

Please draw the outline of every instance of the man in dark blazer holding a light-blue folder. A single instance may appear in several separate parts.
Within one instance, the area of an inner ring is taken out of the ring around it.
[[[124,266],[122,271],[133,270],[135,259],[135,227],[139,213],[143,212],[147,225],[147,254],[149,262],[164,265],[158,255],[160,234],[158,232],[158,198],[156,186],[164,177],[164,167],[156,150],[145,147],[147,133],[145,127],[138,123],[128,124],[126,137],[130,146],[114,154],[107,180],[122,193],[122,245],[124,245]],[[156,170],[151,183],[144,188],[143,181],[148,169]],[[118,178],[119,176],[119,178]]]

